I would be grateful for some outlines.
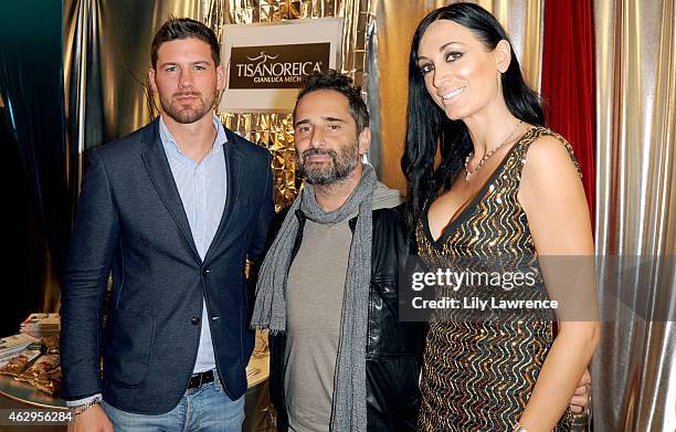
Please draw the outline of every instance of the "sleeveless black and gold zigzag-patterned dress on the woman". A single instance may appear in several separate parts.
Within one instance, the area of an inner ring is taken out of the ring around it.
[[[425,206],[415,230],[423,260],[537,257],[517,193],[528,147],[543,135],[561,140],[574,162],[561,136],[531,127],[436,241],[430,233]],[[547,298],[541,276],[536,291],[536,296]],[[433,318],[425,341],[419,430],[511,431],[552,341],[551,320]],[[570,422],[567,410],[554,431],[570,431]]]

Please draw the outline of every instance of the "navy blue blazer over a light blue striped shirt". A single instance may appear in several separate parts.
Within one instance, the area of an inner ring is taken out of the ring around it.
[[[184,393],[207,301],[216,368],[231,399],[246,390],[253,350],[247,257],[262,259],[274,214],[270,152],[232,131],[228,196],[202,261],[159,138],[159,122],[92,151],[62,293],[64,399],[160,414]],[[103,305],[113,286],[105,329]],[[99,356],[103,351],[103,373]]]

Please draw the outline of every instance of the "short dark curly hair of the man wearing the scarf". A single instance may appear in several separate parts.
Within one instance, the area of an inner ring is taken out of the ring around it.
[[[366,102],[363,102],[363,97],[361,97],[361,88],[355,85],[352,78],[332,69],[325,72],[315,72],[307,77],[305,86],[300,89],[296,99],[294,118],[296,118],[296,107],[303,96],[318,89],[332,89],[347,97],[350,115],[355,123],[357,123],[357,134],[360,134],[365,127],[369,126],[369,109]]]

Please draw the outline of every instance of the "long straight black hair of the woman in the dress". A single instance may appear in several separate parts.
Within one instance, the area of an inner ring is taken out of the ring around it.
[[[408,180],[406,223],[413,229],[425,201],[442,186],[450,187],[472,151],[472,138],[465,124],[451,120],[427,94],[423,75],[418,66],[420,41],[436,20],[456,22],[469,30],[495,50],[498,42],[511,41],[500,23],[482,7],[474,3],[453,3],[427,14],[415,30],[409,57],[409,106],[406,116],[406,146],[401,168]],[[540,97],[528,87],[519,62],[511,49],[509,67],[501,76],[503,96],[511,114],[532,125],[542,126],[545,116]],[[434,169],[437,149],[442,160]]]

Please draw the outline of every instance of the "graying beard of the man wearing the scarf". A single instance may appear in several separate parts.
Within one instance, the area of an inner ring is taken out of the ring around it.
[[[309,166],[306,166],[306,158],[315,155],[328,155],[331,162],[328,167],[326,164],[308,164]],[[358,160],[358,143],[347,145],[340,150],[340,154],[334,150],[310,148],[297,156],[299,171],[311,185],[330,185],[334,181],[346,179],[357,167]]]

